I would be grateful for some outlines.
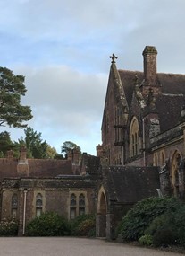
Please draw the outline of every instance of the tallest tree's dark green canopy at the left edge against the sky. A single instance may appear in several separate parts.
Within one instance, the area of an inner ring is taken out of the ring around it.
[[[0,126],[25,128],[24,121],[32,118],[29,106],[21,105],[26,93],[23,75],[13,75],[6,67],[0,67]]]

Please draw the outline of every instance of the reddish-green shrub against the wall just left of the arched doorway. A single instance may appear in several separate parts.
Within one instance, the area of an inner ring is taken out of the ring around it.
[[[94,215],[81,215],[71,221],[71,234],[77,236],[95,236],[96,221]]]

